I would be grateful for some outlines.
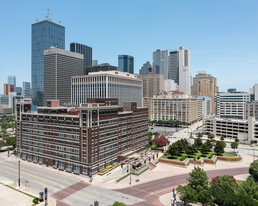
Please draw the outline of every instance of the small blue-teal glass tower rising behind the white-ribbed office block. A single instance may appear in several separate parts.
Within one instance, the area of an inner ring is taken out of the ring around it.
[[[134,74],[134,58],[129,55],[118,55],[118,71]]]

